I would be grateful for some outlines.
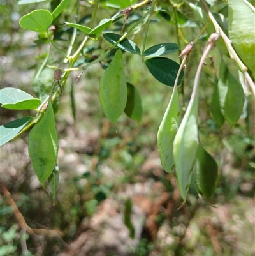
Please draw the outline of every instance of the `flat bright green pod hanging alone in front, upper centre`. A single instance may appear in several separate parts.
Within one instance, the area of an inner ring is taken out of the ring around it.
[[[124,111],[127,102],[126,75],[121,50],[117,50],[101,78],[99,97],[106,117],[115,123]]]

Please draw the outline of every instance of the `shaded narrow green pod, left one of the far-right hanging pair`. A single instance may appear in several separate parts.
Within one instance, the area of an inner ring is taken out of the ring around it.
[[[219,105],[219,94],[217,84],[214,84],[214,93],[212,93],[212,102],[210,105],[210,110],[212,112],[212,116],[214,117],[215,122],[218,124],[219,128],[221,128],[221,126],[224,124],[225,119],[224,116],[222,116],[221,107]]]

